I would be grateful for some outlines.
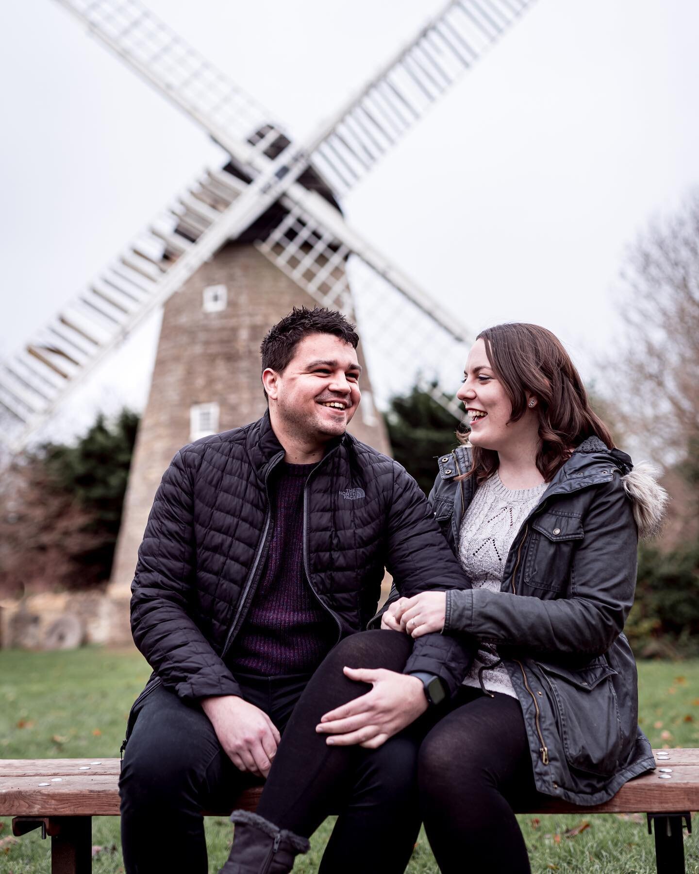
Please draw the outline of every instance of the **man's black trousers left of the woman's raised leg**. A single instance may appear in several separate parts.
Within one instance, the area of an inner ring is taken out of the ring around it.
[[[282,732],[308,676],[237,675],[243,697]],[[128,874],[204,874],[204,809],[230,809],[246,787],[198,705],[156,687],[135,711],[121,765],[121,847]]]

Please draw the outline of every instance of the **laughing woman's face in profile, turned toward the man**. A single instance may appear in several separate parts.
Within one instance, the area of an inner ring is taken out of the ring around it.
[[[468,353],[464,381],[457,398],[463,401],[469,415],[473,446],[500,452],[520,436],[529,410],[517,422],[510,422],[512,404],[502,382],[495,376],[486,354],[484,340],[476,340]],[[532,410],[531,413],[536,415]]]

